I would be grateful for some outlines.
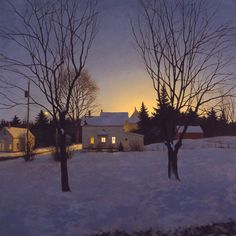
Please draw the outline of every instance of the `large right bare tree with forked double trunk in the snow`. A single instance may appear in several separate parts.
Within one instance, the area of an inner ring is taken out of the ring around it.
[[[204,0],[141,0],[142,15],[131,20],[132,32],[157,99],[165,87],[170,107],[165,119],[168,176],[179,180],[177,154],[191,117],[174,142],[179,112],[198,113],[207,103],[230,96],[227,72],[232,28],[218,24]],[[220,94],[219,91],[224,91]]]

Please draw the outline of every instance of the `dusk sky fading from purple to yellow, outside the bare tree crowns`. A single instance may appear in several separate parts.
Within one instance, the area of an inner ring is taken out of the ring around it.
[[[218,0],[209,0],[215,4]],[[21,0],[16,0],[21,4]],[[89,54],[86,69],[97,82],[100,89],[97,103],[98,111],[128,111],[140,108],[143,101],[149,111],[156,105],[155,91],[139,57],[129,24],[129,16],[137,15],[137,0],[98,0],[99,28]],[[219,21],[230,19],[236,23],[236,0],[220,1]],[[5,5],[1,0],[0,4]],[[3,7],[2,9],[4,9]],[[10,14],[1,14],[1,21],[11,23]],[[8,18],[9,17],[9,18]],[[0,44],[5,48],[5,45]],[[10,49],[9,49],[10,50]],[[17,114],[24,118],[24,107],[12,111],[0,111],[0,119],[12,119]],[[31,108],[31,119],[38,113]]]

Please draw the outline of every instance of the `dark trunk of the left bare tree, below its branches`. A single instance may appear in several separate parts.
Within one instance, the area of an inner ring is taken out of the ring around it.
[[[62,192],[70,192],[68,169],[67,169],[67,153],[66,153],[66,133],[65,133],[65,114],[60,114],[60,162],[61,162],[61,187]]]

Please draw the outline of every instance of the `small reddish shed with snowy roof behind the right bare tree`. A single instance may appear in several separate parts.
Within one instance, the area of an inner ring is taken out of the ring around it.
[[[183,132],[184,126],[177,127],[177,138]],[[184,134],[184,139],[200,139],[204,138],[204,132],[201,126],[188,126],[186,133]]]

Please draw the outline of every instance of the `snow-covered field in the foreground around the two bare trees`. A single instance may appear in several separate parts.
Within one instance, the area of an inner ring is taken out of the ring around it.
[[[61,192],[60,166],[50,156],[0,162],[0,236],[168,230],[236,219],[236,139],[209,140],[215,146],[185,141],[181,182],[168,180],[167,154],[155,148],[75,153],[71,193]],[[225,148],[216,147],[219,140]]]

